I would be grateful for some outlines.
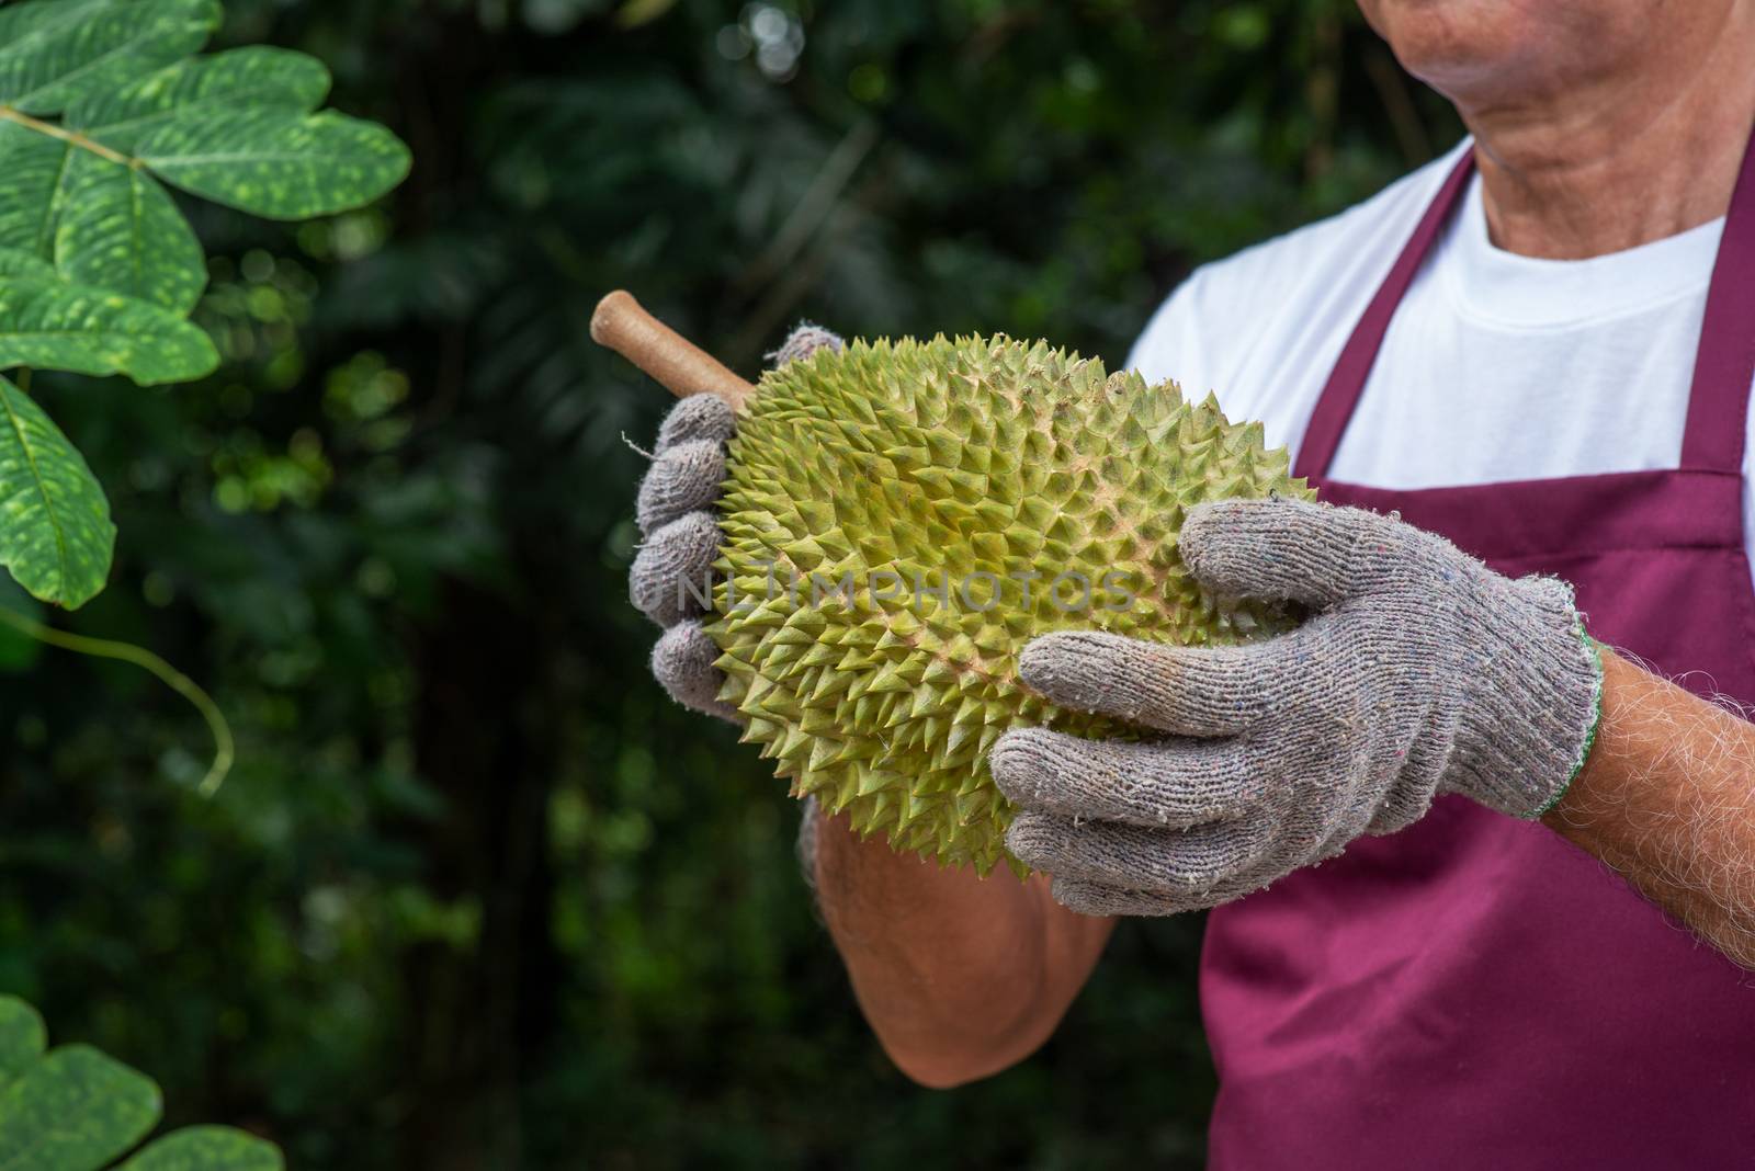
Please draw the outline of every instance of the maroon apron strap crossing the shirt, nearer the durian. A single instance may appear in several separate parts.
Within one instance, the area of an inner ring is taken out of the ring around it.
[[[1472,174],[1474,147],[1469,147],[1457,160],[1444,186],[1439,188],[1432,205],[1420,219],[1420,226],[1402,247],[1402,254],[1395,258],[1395,266],[1390,268],[1378,295],[1371,298],[1365,316],[1353,326],[1353,337],[1346,340],[1341,358],[1329,373],[1329,384],[1323,386],[1322,396],[1316,400],[1316,410],[1304,428],[1304,442],[1299,444],[1299,458],[1292,466],[1292,475],[1322,477],[1329,473],[1329,463],[1341,445],[1341,435],[1353,417],[1353,407],[1358,405],[1358,396],[1365,389],[1365,379],[1371,377],[1371,366],[1376,365],[1378,351],[1383,349],[1383,335],[1390,331],[1390,319],[1395,317],[1402,295],[1415,282],[1420,265],[1432,251],[1439,231],[1444,230],[1444,223],[1462,198]]]

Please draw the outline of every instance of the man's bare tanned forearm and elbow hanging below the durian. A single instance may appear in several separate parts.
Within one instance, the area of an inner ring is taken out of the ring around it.
[[[1085,985],[1113,929],[1055,905],[1041,875],[944,869],[844,817],[816,829],[816,896],[885,1052],[946,1087],[1032,1054]]]

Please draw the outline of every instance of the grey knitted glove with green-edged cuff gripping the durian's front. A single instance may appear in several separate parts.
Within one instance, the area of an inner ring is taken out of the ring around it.
[[[1004,735],[1006,838],[1090,915],[1216,906],[1460,792],[1534,819],[1581,768],[1602,664],[1564,582],[1511,580],[1395,517],[1295,500],[1188,510],[1181,557],[1220,596],[1311,608],[1239,647],[1064,631],[1020,656],[1051,701],[1167,733]]]

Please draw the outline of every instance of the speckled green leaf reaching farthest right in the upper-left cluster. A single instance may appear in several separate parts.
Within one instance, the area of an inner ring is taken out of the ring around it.
[[[184,191],[270,219],[358,207],[409,174],[400,138],[335,112],[176,117],[140,140],[139,158]]]

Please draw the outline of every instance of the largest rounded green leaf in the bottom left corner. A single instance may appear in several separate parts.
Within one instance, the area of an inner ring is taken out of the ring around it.
[[[0,1090],[0,1171],[97,1171],[158,1122],[151,1078],[63,1045]]]

